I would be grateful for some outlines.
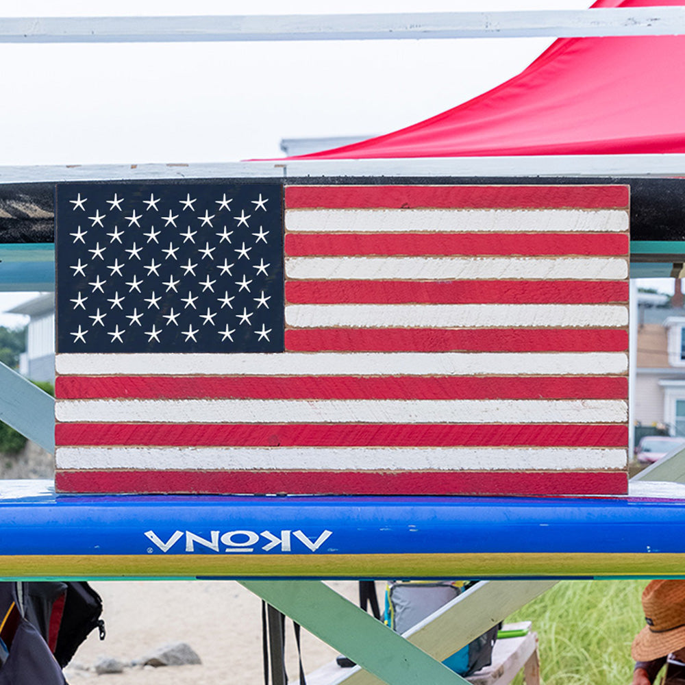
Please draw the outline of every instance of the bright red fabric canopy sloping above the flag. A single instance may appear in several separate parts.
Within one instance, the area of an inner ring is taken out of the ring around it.
[[[599,0],[593,7],[683,5]],[[562,38],[518,76],[394,133],[293,159],[685,152],[685,36]]]

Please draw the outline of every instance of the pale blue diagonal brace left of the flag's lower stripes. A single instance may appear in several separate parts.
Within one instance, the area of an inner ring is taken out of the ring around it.
[[[54,452],[55,400],[2,362],[0,388],[0,421]]]

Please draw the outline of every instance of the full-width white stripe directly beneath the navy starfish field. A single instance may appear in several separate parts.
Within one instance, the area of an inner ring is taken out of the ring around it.
[[[504,334],[504,333],[503,333]],[[625,373],[624,352],[286,352],[58,354],[62,375],[596,375]]]

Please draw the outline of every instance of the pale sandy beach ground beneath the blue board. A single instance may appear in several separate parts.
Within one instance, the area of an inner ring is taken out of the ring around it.
[[[92,632],[65,675],[71,685],[97,678],[105,685],[260,685],[262,667],[261,600],[232,581],[92,582],[103,599],[107,637]],[[329,584],[356,601],[353,582]],[[201,665],[134,667],[124,673],[97,675],[92,667],[103,656],[122,662],[141,658],[165,643],[186,642]],[[303,630],[303,664],[313,671],[337,656],[328,645]],[[297,649],[292,622],[286,623],[286,663],[297,680]]]

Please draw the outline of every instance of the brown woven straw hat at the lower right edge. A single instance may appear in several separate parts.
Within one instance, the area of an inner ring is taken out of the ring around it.
[[[633,658],[651,661],[685,647],[685,580],[653,580],[642,601],[647,625],[633,640]]]

